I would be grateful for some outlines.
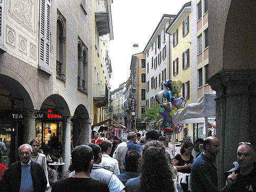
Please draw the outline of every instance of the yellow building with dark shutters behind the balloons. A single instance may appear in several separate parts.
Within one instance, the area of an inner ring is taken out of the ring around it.
[[[191,102],[190,99],[190,82],[191,82],[191,32],[190,18],[191,2],[186,3],[180,12],[170,23],[166,32],[172,35],[172,76],[171,79],[179,79],[182,82],[182,90],[180,95],[186,99],[186,103]],[[184,125],[188,128],[188,132],[181,132],[176,139],[181,140],[182,137],[190,136],[193,132],[190,125]]]

